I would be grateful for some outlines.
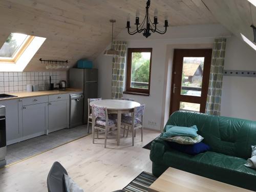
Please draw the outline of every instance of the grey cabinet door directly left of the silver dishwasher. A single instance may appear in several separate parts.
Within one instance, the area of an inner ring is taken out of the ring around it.
[[[68,127],[69,100],[49,102],[48,110],[49,110],[49,133]]]

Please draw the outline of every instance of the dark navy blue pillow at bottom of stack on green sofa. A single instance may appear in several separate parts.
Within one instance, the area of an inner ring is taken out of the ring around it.
[[[175,142],[168,142],[168,144],[174,150],[177,150],[179,152],[183,152],[189,155],[197,155],[210,150],[210,147],[203,142],[196,143],[194,145],[183,145]]]

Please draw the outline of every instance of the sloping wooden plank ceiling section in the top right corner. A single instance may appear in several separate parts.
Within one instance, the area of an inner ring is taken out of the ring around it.
[[[241,34],[253,41],[250,27],[256,26],[256,7],[247,0],[202,0],[220,24],[241,38]]]

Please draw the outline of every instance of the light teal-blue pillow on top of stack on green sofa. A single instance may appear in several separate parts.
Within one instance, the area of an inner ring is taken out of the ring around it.
[[[188,136],[188,137],[197,137],[197,125],[190,127],[186,126],[174,126],[166,125],[166,131],[163,133],[164,138],[173,137],[173,136]]]

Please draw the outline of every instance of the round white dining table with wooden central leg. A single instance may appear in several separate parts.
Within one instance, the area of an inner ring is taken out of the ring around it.
[[[122,99],[102,99],[90,102],[90,106],[92,105],[104,107],[108,113],[117,114],[117,145],[119,145],[122,113],[133,112],[136,106],[140,106],[140,103]]]

